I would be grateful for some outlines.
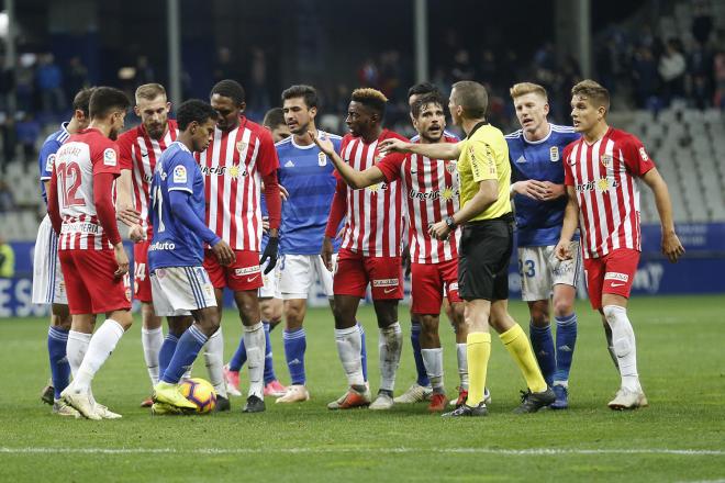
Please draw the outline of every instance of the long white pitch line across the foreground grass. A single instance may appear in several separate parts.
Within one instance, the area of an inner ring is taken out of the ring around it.
[[[443,454],[500,454],[500,456],[561,456],[561,454],[670,454],[682,457],[725,457],[725,450],[710,449],[569,449],[569,448],[8,448],[0,447],[0,454],[333,454],[333,453],[420,453]]]

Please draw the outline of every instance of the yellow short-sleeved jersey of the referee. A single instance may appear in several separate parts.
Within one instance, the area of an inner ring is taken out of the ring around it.
[[[479,126],[460,142],[458,157],[460,183],[460,207],[471,201],[484,180],[497,180],[499,199],[488,209],[473,216],[470,222],[492,220],[511,213],[511,165],[509,165],[509,145],[503,133],[490,124]]]

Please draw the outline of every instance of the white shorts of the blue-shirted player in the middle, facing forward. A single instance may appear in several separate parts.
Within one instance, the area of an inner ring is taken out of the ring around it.
[[[337,254],[333,255],[333,268]],[[279,267],[279,291],[283,300],[305,299],[314,282],[320,281],[324,294],[333,296],[333,272],[320,255],[283,255]]]

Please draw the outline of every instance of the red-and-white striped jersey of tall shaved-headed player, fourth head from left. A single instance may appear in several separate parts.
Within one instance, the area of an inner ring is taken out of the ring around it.
[[[279,168],[271,134],[246,117],[231,131],[214,130],[197,154],[204,175],[207,225],[234,250],[261,249],[261,177]]]

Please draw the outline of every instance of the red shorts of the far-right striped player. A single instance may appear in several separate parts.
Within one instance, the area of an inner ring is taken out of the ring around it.
[[[602,258],[584,259],[587,290],[594,310],[602,308],[604,293],[629,297],[638,262],[639,251],[631,248],[618,248]]]

